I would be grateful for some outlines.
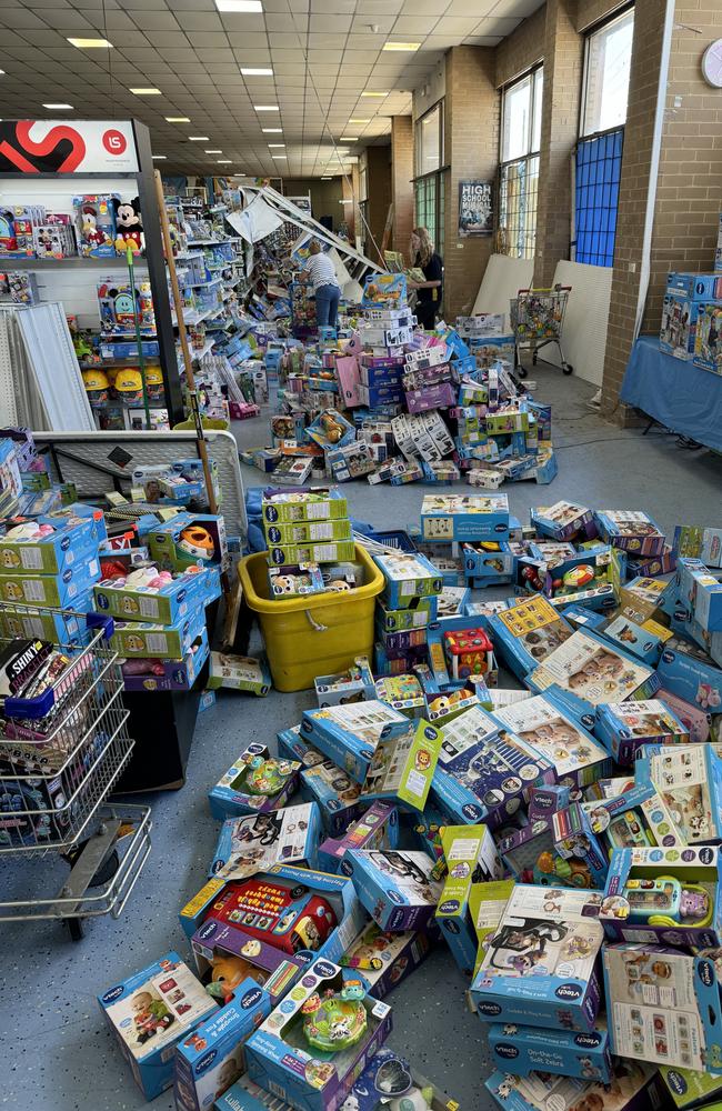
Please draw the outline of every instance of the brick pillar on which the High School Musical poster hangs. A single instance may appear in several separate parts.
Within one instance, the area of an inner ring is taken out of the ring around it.
[[[444,314],[453,319],[473,307],[493,250],[493,237],[460,239],[459,182],[493,181],[499,160],[499,94],[494,51],[452,47],[447,54]]]

